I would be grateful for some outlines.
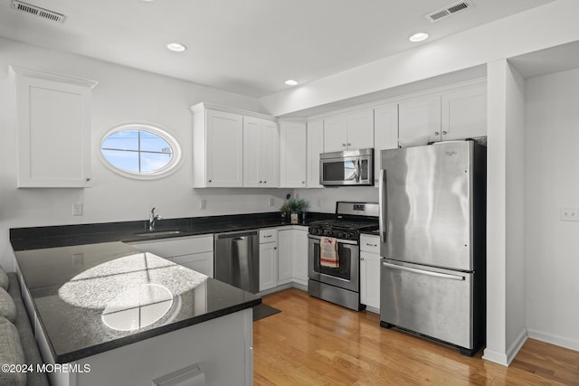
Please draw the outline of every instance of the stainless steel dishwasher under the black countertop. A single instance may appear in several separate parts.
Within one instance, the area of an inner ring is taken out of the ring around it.
[[[214,235],[214,276],[256,294],[260,291],[260,240],[258,231]]]

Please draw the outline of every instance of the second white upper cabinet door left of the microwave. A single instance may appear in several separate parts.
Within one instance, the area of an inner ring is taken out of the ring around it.
[[[306,187],[306,130],[305,123],[280,122],[281,187]]]

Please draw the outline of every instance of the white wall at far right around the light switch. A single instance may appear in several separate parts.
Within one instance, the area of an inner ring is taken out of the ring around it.
[[[579,350],[579,69],[527,80],[525,226],[527,330]]]

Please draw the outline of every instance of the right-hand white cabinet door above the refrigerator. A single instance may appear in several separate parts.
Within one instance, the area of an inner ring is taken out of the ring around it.
[[[487,87],[470,86],[442,94],[442,140],[487,135]]]

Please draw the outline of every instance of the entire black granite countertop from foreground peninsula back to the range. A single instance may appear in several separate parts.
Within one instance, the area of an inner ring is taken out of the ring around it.
[[[127,242],[308,226],[331,217],[308,213],[298,224],[279,212],[169,219],[154,232],[148,221],[16,228],[10,241],[52,356],[64,363],[261,303]]]

